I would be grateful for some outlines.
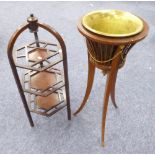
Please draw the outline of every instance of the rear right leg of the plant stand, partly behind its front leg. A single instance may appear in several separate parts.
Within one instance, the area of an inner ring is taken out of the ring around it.
[[[118,69],[115,71],[112,81],[112,88],[111,88],[111,100],[115,108],[118,108],[115,100],[115,86],[116,86],[116,78],[117,78]]]

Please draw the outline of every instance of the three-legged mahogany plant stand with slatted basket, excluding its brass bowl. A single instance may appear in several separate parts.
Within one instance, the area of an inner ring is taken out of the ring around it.
[[[117,108],[115,101],[115,84],[117,72],[118,69],[124,65],[125,58],[129,50],[135,45],[135,43],[141,41],[147,36],[148,25],[144,20],[143,24],[143,31],[137,35],[126,38],[112,38],[97,35],[86,30],[82,25],[81,19],[78,23],[79,32],[86,38],[88,50],[88,80],[84,99],[78,110],[74,113],[74,115],[77,115],[84,108],[88,100],[94,81],[95,69],[98,68],[102,70],[104,74],[107,74],[102,113],[101,133],[103,146],[105,138],[105,122],[109,96],[111,96],[114,107]]]

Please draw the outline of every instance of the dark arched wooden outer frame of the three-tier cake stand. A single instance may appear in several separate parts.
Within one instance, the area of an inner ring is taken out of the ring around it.
[[[24,105],[24,108],[25,108],[29,123],[30,123],[30,125],[32,127],[34,126],[34,123],[33,123],[33,120],[32,120],[32,116],[30,114],[30,110],[29,110],[29,107],[28,107],[28,104],[27,104],[27,101],[26,101],[26,97],[25,97],[25,94],[24,94],[24,91],[23,91],[23,87],[22,87],[22,84],[20,82],[20,77],[18,75],[17,68],[16,68],[16,67],[21,67],[21,66],[16,66],[16,63],[14,62],[14,59],[13,59],[13,52],[14,51],[13,51],[13,49],[14,49],[14,44],[15,44],[17,38],[20,36],[21,33],[23,33],[28,28],[32,32],[34,31],[36,44],[39,47],[38,35],[37,35],[38,27],[41,27],[41,28],[45,29],[51,35],[53,35],[57,39],[57,41],[59,42],[60,47],[62,49],[62,55],[63,55],[63,60],[62,61],[63,61],[63,68],[64,68],[64,85],[65,85],[66,102],[67,102],[67,114],[68,114],[68,120],[71,120],[70,96],[69,96],[69,79],[68,79],[68,64],[67,64],[67,53],[66,53],[65,43],[64,43],[62,37],[60,36],[60,34],[54,28],[50,27],[49,25],[44,24],[44,23],[40,23],[38,21],[35,21],[33,23],[32,22],[27,22],[27,23],[24,23],[22,26],[20,26],[14,32],[12,37],[10,38],[9,43],[8,43],[8,48],[7,48],[7,55],[8,55],[8,59],[9,59],[9,63],[10,63],[11,69],[12,69],[12,73],[14,75],[14,79],[16,81],[18,91],[20,93],[20,96],[21,96],[21,99],[22,99],[22,102],[23,102],[23,105]],[[30,68],[27,68],[27,69],[30,69]],[[36,71],[40,71],[40,70],[36,70]]]

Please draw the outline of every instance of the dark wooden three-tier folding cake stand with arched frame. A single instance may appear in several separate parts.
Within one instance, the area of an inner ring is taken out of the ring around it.
[[[58,43],[41,41],[38,28],[49,32]],[[17,38],[27,29],[34,34],[34,41],[14,50]],[[30,112],[49,117],[66,106],[70,120],[67,53],[60,34],[31,14],[12,35],[7,54],[30,125],[34,126]],[[22,77],[18,68],[24,70]]]

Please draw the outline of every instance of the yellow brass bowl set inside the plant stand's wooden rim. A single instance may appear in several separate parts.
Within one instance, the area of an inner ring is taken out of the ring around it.
[[[91,32],[110,37],[127,37],[143,30],[143,21],[120,10],[98,10],[86,14],[82,25]]]

